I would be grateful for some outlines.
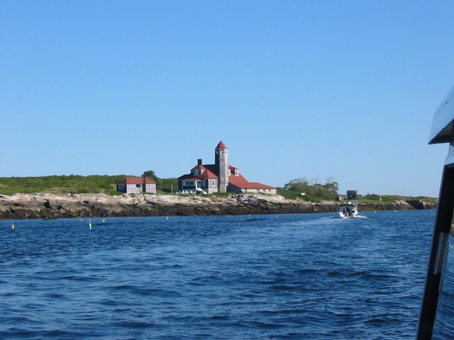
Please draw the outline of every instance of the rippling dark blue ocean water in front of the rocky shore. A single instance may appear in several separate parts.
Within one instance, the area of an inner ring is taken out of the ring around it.
[[[414,339],[435,212],[0,221],[1,339]]]

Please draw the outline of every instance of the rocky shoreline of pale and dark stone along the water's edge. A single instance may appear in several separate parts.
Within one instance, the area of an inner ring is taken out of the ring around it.
[[[123,195],[49,193],[0,196],[0,220],[74,217],[140,217],[194,215],[259,215],[336,212],[338,202],[310,203],[282,196],[239,194],[226,197],[182,195]],[[399,200],[359,203],[358,210],[433,209],[435,203]]]

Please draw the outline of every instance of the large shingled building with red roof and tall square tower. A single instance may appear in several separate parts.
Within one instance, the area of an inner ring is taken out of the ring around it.
[[[191,173],[178,178],[182,193],[271,193],[276,188],[262,183],[250,182],[240,170],[228,164],[228,148],[221,141],[214,149],[214,164],[202,164],[199,159]]]

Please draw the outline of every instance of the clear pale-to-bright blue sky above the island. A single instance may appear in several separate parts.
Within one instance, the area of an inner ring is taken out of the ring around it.
[[[1,1],[0,176],[187,174],[438,196],[454,1]]]

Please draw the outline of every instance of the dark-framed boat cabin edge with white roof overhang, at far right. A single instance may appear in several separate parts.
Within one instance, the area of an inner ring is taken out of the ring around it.
[[[438,107],[429,144],[450,143],[438,196],[431,254],[416,339],[454,334],[454,87]]]

